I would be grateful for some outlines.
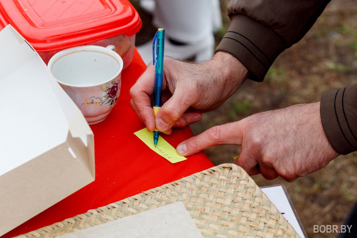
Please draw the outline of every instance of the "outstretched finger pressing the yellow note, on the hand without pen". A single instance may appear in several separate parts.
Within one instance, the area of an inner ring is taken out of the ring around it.
[[[181,142],[177,146],[179,155],[188,156],[217,145],[242,145],[243,127],[241,121],[214,126],[198,136]]]

